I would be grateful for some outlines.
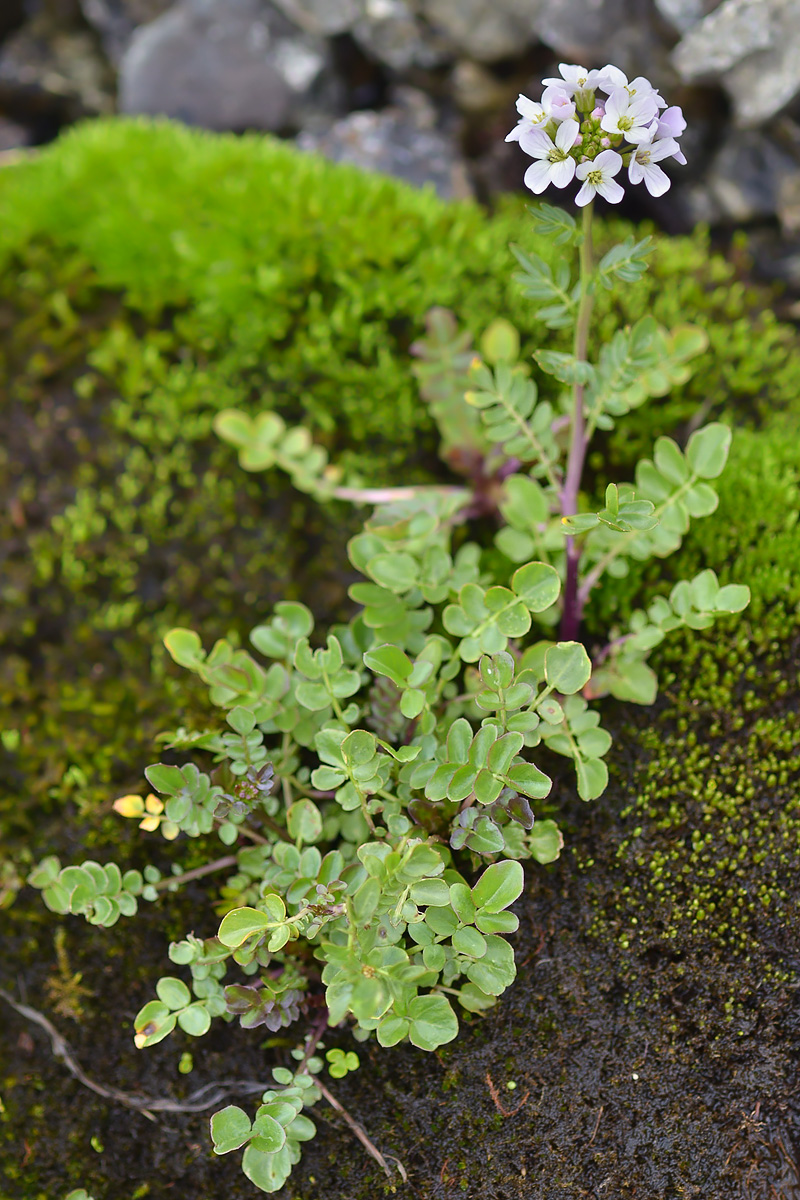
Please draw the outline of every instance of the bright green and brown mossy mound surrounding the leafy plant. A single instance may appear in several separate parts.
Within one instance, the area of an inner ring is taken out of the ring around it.
[[[204,720],[201,694],[164,665],[166,628],[191,624],[209,641],[243,632],[282,595],[323,619],[344,602],[353,515],[245,476],[211,436],[213,414],[275,404],[371,482],[429,478],[439,468],[408,347],[434,304],[475,334],[503,312],[536,344],[507,282],[512,240],[555,253],[517,204],[487,218],[266,139],[164,124],[86,126],[2,173],[0,702],[20,737],[0,748],[0,821],[34,854],[167,857],[108,816],[155,733]],[[652,311],[703,324],[711,350],[606,442],[599,468],[627,468],[654,431],[698,408],[741,427],[718,512],[674,559],[619,586],[636,604],[712,566],[750,583],[753,604],[711,637],[658,652],[656,709],[616,709],[602,802],[578,805],[559,782],[571,848],[530,876],[519,978],[498,1009],[438,1056],[365,1046],[366,1069],[336,1086],[422,1198],[728,1200],[794,1186],[781,1156],[793,1153],[800,1052],[800,359],[763,302],[703,234],[661,239],[616,311],[600,299],[601,328]],[[197,846],[178,852],[194,865]],[[136,926],[65,924],[71,970],[95,992],[73,1025],[46,989],[55,922],[23,894],[4,913],[2,985],[14,991],[22,972],[29,1003],[100,1081],[185,1096],[263,1076],[276,1049],[263,1052],[258,1031],[132,1048],[167,942],[204,907],[198,887]],[[20,1018],[8,1028],[8,1200],[58,1200],[79,1184],[96,1200],[253,1194],[237,1156],[210,1154],[207,1115],[152,1127],[80,1088],[38,1033],[34,1054],[16,1043],[29,1032]],[[176,1073],[186,1049],[190,1076]],[[498,1108],[527,1092],[517,1114]],[[389,1192],[330,1110],[318,1114],[285,1200]]]

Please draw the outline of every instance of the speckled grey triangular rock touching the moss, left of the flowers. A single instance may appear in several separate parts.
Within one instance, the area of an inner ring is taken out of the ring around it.
[[[380,113],[351,113],[327,128],[305,130],[296,144],[416,187],[433,184],[449,199],[471,194],[455,139],[437,130],[433,106],[415,89],[398,89],[397,103]]]

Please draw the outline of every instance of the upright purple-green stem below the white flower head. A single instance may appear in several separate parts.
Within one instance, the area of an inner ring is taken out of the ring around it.
[[[594,289],[591,288],[591,214],[594,202],[583,209],[582,240],[581,240],[581,301],[578,304],[578,319],[575,326],[575,358],[579,362],[587,361],[587,347],[589,343],[589,323],[591,320],[591,306],[594,301]],[[581,490],[581,476],[587,457],[587,422],[584,416],[584,384],[573,384],[573,409],[572,409],[572,436],[570,439],[570,456],[566,466],[566,478],[561,488],[561,516],[571,517],[578,511],[578,492]],[[581,617],[583,604],[578,596],[578,563],[581,551],[576,546],[575,538],[566,539],[566,581],[564,584],[564,612],[561,613],[560,637],[564,642],[572,642],[578,636],[581,629]]]

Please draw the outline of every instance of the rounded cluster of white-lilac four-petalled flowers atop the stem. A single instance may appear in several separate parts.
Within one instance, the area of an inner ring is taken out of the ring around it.
[[[663,196],[669,176],[658,163],[686,162],[678,144],[686,128],[680,108],[667,108],[644,76],[628,83],[619,67],[587,71],[561,62],[559,71],[560,79],[543,80],[540,103],[519,97],[521,120],[506,138],[536,160],[525,172],[525,187],[539,196],[551,184],[566,187],[577,178],[583,186],[576,204],[595,196],[619,204],[625,191],[614,176],[627,167],[631,184],[644,182],[651,196]]]

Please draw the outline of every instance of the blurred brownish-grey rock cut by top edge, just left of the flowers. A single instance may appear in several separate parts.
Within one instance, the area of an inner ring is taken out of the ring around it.
[[[536,41],[551,0],[420,0],[422,14],[479,62],[517,58]]]

